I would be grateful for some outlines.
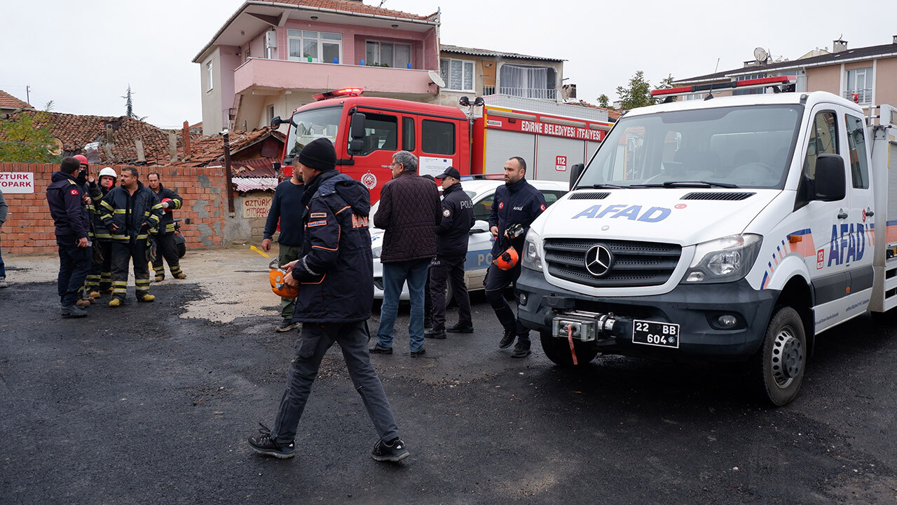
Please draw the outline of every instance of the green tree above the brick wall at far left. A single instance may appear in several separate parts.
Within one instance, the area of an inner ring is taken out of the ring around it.
[[[38,112],[20,112],[15,120],[0,121],[0,162],[56,163],[59,156],[56,139],[47,124],[47,116]]]

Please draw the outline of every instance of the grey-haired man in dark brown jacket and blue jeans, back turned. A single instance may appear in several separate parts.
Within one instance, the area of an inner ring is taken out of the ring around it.
[[[436,257],[436,226],[442,222],[440,192],[436,184],[417,176],[417,156],[408,151],[393,155],[393,180],[380,190],[374,226],[386,230],[383,263],[383,304],[377,343],[370,352],[392,354],[398,297],[405,281],[411,295],[408,340],[411,357],[423,356],[423,288],[430,261]]]

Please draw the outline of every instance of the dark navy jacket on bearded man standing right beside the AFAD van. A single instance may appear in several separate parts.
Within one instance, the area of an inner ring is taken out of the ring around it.
[[[545,197],[541,191],[527,182],[526,178],[521,178],[513,184],[499,186],[495,190],[492,210],[489,211],[489,226],[499,228],[499,236],[495,239],[495,244],[492,244],[492,257],[497,257],[509,246],[514,247],[518,254],[522,253],[526,232],[544,209]],[[513,225],[523,226],[526,231],[514,240],[502,240],[505,230]]]

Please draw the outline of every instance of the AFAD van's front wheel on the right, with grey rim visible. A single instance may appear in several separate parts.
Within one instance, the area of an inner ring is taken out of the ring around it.
[[[804,323],[793,308],[779,308],[766,327],[751,363],[753,383],[763,402],[780,407],[797,396],[806,368]]]

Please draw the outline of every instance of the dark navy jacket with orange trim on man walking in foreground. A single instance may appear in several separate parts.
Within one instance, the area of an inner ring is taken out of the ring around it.
[[[364,321],[374,300],[370,191],[335,170],[319,173],[306,186],[302,257],[292,269],[300,281],[292,320]]]

